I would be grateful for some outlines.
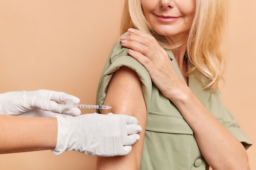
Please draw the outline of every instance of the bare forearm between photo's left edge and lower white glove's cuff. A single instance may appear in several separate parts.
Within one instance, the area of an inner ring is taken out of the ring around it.
[[[0,153],[54,149],[56,118],[0,115]]]

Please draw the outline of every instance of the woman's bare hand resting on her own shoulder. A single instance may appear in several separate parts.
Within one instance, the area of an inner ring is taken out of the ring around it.
[[[168,54],[153,36],[136,29],[128,29],[128,33],[121,37],[121,44],[129,49],[129,55],[144,65],[163,95],[172,100],[185,84],[175,72]]]

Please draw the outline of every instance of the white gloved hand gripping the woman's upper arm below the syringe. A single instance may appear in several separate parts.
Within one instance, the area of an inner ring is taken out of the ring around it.
[[[141,131],[135,117],[128,115],[101,115],[90,113],[76,117],[56,115],[58,137],[56,148],[59,155],[65,150],[75,150],[88,155],[104,157],[127,155]]]

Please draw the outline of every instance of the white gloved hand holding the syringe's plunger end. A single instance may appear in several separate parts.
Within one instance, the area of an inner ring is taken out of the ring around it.
[[[63,92],[48,90],[2,93],[0,114],[25,117],[54,117],[57,113],[72,116],[81,114],[79,108],[59,108],[56,102],[79,104],[80,99]]]

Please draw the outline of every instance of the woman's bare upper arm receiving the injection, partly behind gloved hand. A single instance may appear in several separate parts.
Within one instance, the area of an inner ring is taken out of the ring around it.
[[[132,145],[132,151],[126,156],[98,157],[97,170],[137,170],[139,169],[141,152],[146,128],[146,104],[143,97],[141,81],[128,67],[121,67],[112,76],[104,104],[112,106],[111,110],[103,110],[103,114],[131,115],[138,119],[142,128],[140,139]]]

